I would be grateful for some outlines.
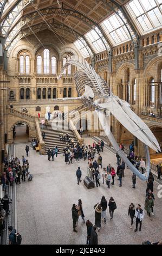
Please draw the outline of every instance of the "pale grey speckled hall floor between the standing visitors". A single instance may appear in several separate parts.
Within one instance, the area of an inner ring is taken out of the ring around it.
[[[85,139],[86,144],[92,144],[91,138]],[[25,155],[25,144],[16,145],[16,156],[22,159]],[[17,185],[17,222],[18,232],[22,235],[22,244],[86,244],[87,228],[82,223],[81,217],[77,225],[77,233],[73,232],[72,205],[82,199],[85,219],[94,224],[95,211],[93,206],[100,202],[104,195],[107,199],[112,196],[115,199],[117,209],[114,211],[113,221],[109,219],[107,209],[107,223],[101,222],[101,230],[98,233],[98,242],[101,244],[141,244],[142,241],[152,242],[162,239],[162,198],[157,197],[158,183],[154,182],[154,216],[150,221],[146,215],[142,221],[142,230],[134,233],[130,229],[131,218],[128,217],[128,205],[141,204],[144,209],[146,184],[137,178],[136,189],[132,188],[132,172],[125,169],[125,178],[122,179],[122,187],[119,187],[115,177],[115,185],[108,190],[106,184],[88,190],[83,184],[86,176],[87,161],[66,164],[64,157],[59,154],[54,162],[48,161],[47,156],[42,156],[30,148],[29,157],[30,172],[34,174],[32,181],[26,180]],[[113,153],[104,149],[102,153],[103,167],[108,163],[116,169],[116,157]],[[82,170],[82,182],[77,185],[76,169]],[[101,170],[101,168],[100,168]]]

